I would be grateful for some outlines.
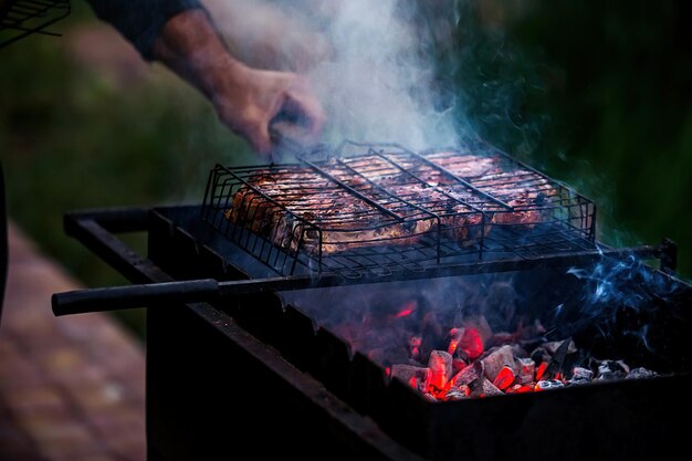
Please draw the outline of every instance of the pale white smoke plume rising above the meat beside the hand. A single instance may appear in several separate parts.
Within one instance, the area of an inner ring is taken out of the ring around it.
[[[240,59],[307,76],[327,113],[328,144],[457,144],[457,103],[436,86],[436,56],[430,52],[440,31],[451,29],[421,21],[419,2],[206,3]],[[448,15],[442,22],[450,21]]]

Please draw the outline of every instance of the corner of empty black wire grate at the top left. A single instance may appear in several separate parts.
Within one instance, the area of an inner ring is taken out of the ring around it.
[[[9,0],[0,11],[0,48],[32,33],[60,36],[45,29],[70,14],[70,0]]]

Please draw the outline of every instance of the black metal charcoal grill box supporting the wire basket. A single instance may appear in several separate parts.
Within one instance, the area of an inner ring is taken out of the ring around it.
[[[665,376],[431,402],[403,381],[387,378],[364,352],[354,350],[325,325],[316,328],[317,321],[305,314],[308,305],[313,312],[328,310],[335,298],[359,303],[369,290],[386,296],[385,305],[397,303],[408,297],[397,295],[400,283],[340,286],[327,293],[310,290],[298,296],[274,293],[295,290],[297,277],[282,277],[287,284],[281,286],[275,280],[247,280],[255,270],[263,271],[263,264],[219,235],[199,213],[192,206],[92,210],[65,217],[67,233],[104,261],[133,282],[156,283],[129,287],[164,287],[200,277],[237,287],[262,286],[252,295],[243,291],[208,296],[211,304],[181,291],[144,300],[151,306],[147,314],[150,460],[228,459],[234,448],[256,459],[300,458],[306,447],[335,460],[668,459],[686,448],[686,427],[677,418],[689,400],[691,384],[686,345],[692,287],[684,282],[647,268],[637,276],[623,274],[627,286],[649,293],[643,308],[614,301],[608,310],[618,312],[611,318],[617,322],[612,334],[595,334],[591,327],[602,325],[597,322],[573,335],[594,355],[600,350],[626,363],[636,359]],[[148,258],[114,234],[133,231],[147,233]],[[664,261],[674,262],[670,251],[674,247],[669,243],[668,250],[661,250],[651,248],[646,253],[662,258],[662,266]],[[579,314],[576,294],[591,282],[570,276],[566,269],[617,265],[629,251],[604,249],[602,256],[591,252],[579,261],[570,253],[512,274],[518,290],[517,312],[528,310],[546,325],[553,325],[555,306],[564,302],[568,306],[562,308],[572,306]],[[489,264],[495,265],[473,265]],[[674,290],[657,295],[661,281]],[[473,276],[469,283],[483,281]],[[113,300],[109,289],[104,290],[95,304],[108,308]],[[373,306],[380,305],[381,296],[371,297]],[[650,340],[631,335],[631,327],[644,324]],[[232,422],[219,423],[229,415]],[[268,415],[301,418],[273,430],[268,443]]]

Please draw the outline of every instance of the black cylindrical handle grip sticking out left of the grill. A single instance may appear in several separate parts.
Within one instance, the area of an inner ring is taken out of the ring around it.
[[[144,307],[156,303],[203,302],[218,294],[219,282],[202,279],[55,293],[51,304],[53,314],[61,316]]]

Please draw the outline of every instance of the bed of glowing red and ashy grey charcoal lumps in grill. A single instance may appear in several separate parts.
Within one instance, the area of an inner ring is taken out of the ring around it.
[[[493,286],[490,292],[500,294],[484,300],[485,293],[479,292],[476,297],[450,301],[444,308],[421,293],[411,297],[384,293],[378,303],[364,303],[360,316],[338,311],[329,327],[353,350],[381,365],[391,379],[431,401],[656,376],[644,368],[630,371],[622,360],[590,357],[572,337],[548,340],[555,328],[520,316],[510,285]]]

